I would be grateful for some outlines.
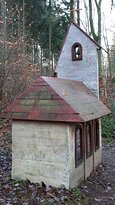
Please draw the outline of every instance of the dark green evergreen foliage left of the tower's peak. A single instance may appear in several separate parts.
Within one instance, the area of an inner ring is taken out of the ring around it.
[[[8,1],[8,0],[7,0]],[[13,20],[12,27],[18,33],[19,23],[23,25],[25,22],[25,35],[28,43],[31,45],[39,45],[43,51],[43,58],[49,58],[49,18],[51,17],[51,55],[57,60],[62,41],[67,30],[70,16],[68,15],[67,2],[60,3],[52,0],[51,9],[49,2],[46,0],[24,0],[25,1],[25,19],[23,19],[23,0],[14,0],[9,6],[14,10],[18,7],[19,14],[16,13]],[[31,52],[31,48],[28,49]],[[36,48],[36,53],[38,52]]]

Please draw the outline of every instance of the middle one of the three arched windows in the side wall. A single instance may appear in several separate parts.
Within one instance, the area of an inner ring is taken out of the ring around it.
[[[88,123],[86,126],[86,156],[87,158],[92,154],[92,141],[91,141],[91,124]]]

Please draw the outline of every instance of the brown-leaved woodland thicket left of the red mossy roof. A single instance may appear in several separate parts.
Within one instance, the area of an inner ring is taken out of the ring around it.
[[[8,2],[9,3],[9,2]],[[11,2],[10,2],[11,3]],[[28,43],[23,37],[22,9],[2,1],[0,23],[0,107],[10,102],[32,79],[39,75],[32,64]],[[16,24],[15,24],[16,22]]]

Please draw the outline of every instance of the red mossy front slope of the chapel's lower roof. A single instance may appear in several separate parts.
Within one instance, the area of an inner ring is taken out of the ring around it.
[[[2,118],[83,122],[80,115],[43,79],[38,78],[7,107]]]

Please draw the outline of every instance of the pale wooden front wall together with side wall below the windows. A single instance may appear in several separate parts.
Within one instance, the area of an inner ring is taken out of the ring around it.
[[[12,178],[76,187],[92,172],[93,156],[75,168],[75,128],[72,123],[13,121]],[[100,160],[101,149],[95,152],[95,167]]]

